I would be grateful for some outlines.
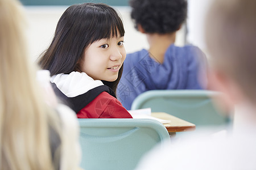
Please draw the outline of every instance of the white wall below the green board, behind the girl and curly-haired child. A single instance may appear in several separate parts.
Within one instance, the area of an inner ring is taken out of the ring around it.
[[[51,42],[57,22],[68,6],[26,6],[28,16],[28,46],[31,59],[35,60]],[[114,7],[122,16],[125,27],[126,52],[148,48],[146,36],[139,33],[130,18],[130,7]],[[176,45],[184,44],[184,28],[176,37]]]

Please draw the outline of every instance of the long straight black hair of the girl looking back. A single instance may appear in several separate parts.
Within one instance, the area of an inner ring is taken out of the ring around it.
[[[125,35],[121,18],[114,8],[103,3],[72,5],[64,11],[57,23],[55,36],[48,49],[39,58],[42,69],[52,75],[80,70],[84,50],[94,41]],[[115,92],[123,66],[114,82],[102,81]]]

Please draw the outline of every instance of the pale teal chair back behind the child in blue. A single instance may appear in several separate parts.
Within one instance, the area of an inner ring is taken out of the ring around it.
[[[212,97],[220,92],[208,90],[152,90],[139,95],[131,110],[151,108],[152,112],[166,112],[200,126],[228,125],[231,118],[218,110]]]

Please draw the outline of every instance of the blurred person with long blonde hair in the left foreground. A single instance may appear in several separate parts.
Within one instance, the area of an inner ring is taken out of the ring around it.
[[[22,5],[0,0],[0,23],[0,169],[79,169],[75,113],[43,97],[28,59]]]

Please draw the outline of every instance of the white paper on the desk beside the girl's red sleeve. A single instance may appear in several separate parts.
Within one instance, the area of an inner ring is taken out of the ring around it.
[[[133,111],[129,111],[129,113],[131,114],[131,116],[133,116],[133,118],[150,118],[150,119],[157,120],[162,124],[168,124],[171,122],[170,120],[163,120],[161,118],[156,118],[151,116],[151,108],[133,110]]]

